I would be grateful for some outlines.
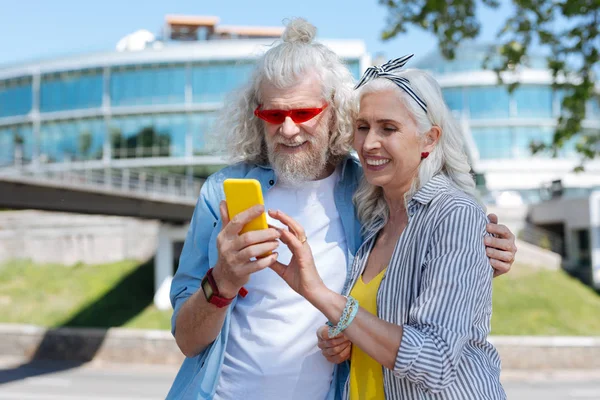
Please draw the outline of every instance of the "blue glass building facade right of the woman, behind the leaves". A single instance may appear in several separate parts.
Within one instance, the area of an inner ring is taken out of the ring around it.
[[[519,86],[509,92],[494,71],[484,69],[489,54],[490,46],[471,43],[460,48],[454,60],[446,60],[436,51],[422,57],[416,67],[436,77],[446,104],[466,128],[467,142],[474,150],[471,155],[475,172],[483,177],[479,183],[489,184],[494,179],[488,179],[490,175],[496,178],[491,185],[494,190],[515,190],[524,202],[536,202],[540,200],[540,185],[550,176],[544,169],[557,171],[558,163],[571,165],[580,157],[576,153],[578,138],[565,143],[556,158],[549,153],[533,156],[531,152],[533,143],[552,142],[565,91],[552,87],[546,59],[531,57],[519,71]],[[497,60],[492,56],[489,65],[495,64]],[[585,130],[600,132],[599,98],[597,94],[587,104]],[[532,172],[530,166],[536,171]],[[522,173],[517,172],[519,168]],[[564,168],[561,174],[566,176],[573,166]],[[588,180],[589,188],[595,187],[592,180]],[[485,186],[481,189],[487,192]],[[567,190],[575,193],[579,188]]]

